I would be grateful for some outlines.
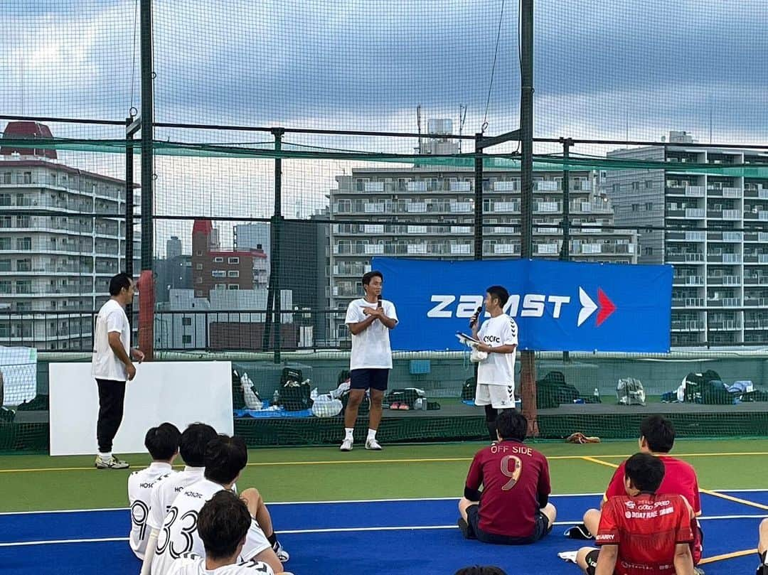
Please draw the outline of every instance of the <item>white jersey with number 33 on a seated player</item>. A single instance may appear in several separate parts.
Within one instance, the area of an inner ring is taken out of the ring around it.
[[[185,487],[170,505],[170,510],[163,521],[160,534],[157,535],[157,548],[152,560],[152,575],[167,575],[174,559],[192,552],[205,557],[205,547],[197,534],[197,514],[214,494],[222,491],[220,484],[202,479]],[[272,547],[256,520],[251,520],[245,545],[240,552],[240,559],[250,560],[263,550]]]

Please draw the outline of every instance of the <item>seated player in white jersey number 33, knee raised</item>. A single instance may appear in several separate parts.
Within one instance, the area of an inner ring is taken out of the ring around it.
[[[197,532],[197,515],[206,501],[219,491],[233,491],[233,485],[248,463],[248,450],[243,438],[219,435],[207,444],[204,478],[185,487],[174,499],[157,536],[152,560],[152,575],[167,575],[174,558],[194,552],[205,555],[203,541]],[[250,528],[240,553],[244,561],[256,559],[268,564],[275,573],[283,567],[275,550],[280,549],[272,527],[272,517],[261,495],[250,488],[240,495],[252,517]],[[268,535],[267,535],[268,534]],[[288,554],[285,554],[286,560]]]

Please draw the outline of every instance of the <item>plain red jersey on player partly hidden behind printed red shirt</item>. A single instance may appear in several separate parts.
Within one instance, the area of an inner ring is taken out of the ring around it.
[[[690,507],[693,507],[694,514],[698,517],[701,514],[701,500],[699,497],[699,481],[696,478],[694,468],[685,461],[671,458],[669,455],[659,455],[658,458],[664,461],[664,479],[661,480],[657,493],[682,495],[686,498]],[[608,488],[605,490],[603,501],[607,501],[609,498],[617,495],[624,496],[627,494],[624,491],[624,463],[624,461],[621,462],[616,473],[614,473],[614,477],[611,478],[611,483],[608,484]],[[694,565],[697,565],[701,560],[702,540],[699,524],[695,518],[690,520],[690,528],[694,531],[691,553],[694,555]]]

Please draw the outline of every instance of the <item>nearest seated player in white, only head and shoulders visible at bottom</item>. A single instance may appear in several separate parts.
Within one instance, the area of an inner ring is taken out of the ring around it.
[[[245,501],[236,494],[231,491],[214,494],[197,516],[197,533],[203,540],[205,557],[182,554],[171,563],[168,575],[274,575],[267,563],[238,560],[251,521]]]

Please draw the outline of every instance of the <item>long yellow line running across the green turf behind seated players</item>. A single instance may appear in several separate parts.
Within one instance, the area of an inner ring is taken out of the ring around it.
[[[715,452],[715,453],[675,453],[674,456],[678,458],[710,458],[710,457],[735,457],[739,455],[768,455],[768,451],[730,451],[730,452]],[[603,459],[626,459],[631,457],[631,454],[611,454],[611,455],[598,455],[595,457]],[[617,465],[609,464],[607,461],[601,461],[595,459],[589,455],[548,455],[549,461],[558,460],[572,460],[581,459],[585,461],[592,461],[593,463],[600,463],[609,467],[617,467]],[[407,459],[339,459],[336,461],[257,461],[249,463],[249,467],[272,467],[276,465],[346,465],[346,464],[359,464],[359,463],[445,463],[452,461],[472,461],[471,457],[466,458],[407,458]],[[174,465],[174,467],[182,468],[183,465]],[[94,467],[69,467],[69,468],[19,468],[19,469],[0,469],[0,473],[29,473],[33,471],[88,471],[95,469]]]

